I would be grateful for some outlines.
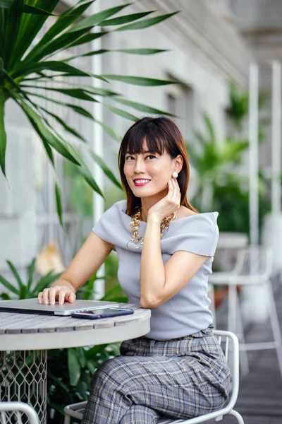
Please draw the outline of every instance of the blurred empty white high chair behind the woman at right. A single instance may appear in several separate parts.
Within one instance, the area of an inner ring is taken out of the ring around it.
[[[238,252],[235,268],[231,272],[214,272],[209,284],[228,285],[228,323],[227,329],[238,335],[240,340],[240,369],[243,375],[249,372],[247,351],[275,348],[282,377],[282,340],[278,322],[274,293],[271,285],[273,253],[269,247],[249,246]],[[274,341],[245,343],[243,319],[238,298],[237,285],[247,287],[260,285],[264,288],[265,303],[271,322]]]

